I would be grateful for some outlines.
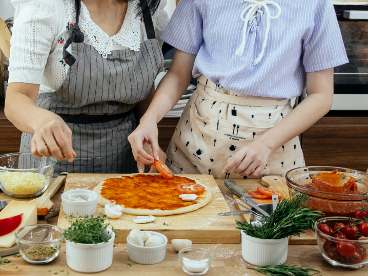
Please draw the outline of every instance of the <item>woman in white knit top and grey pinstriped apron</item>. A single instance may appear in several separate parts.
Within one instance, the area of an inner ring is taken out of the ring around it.
[[[137,172],[127,136],[163,66],[166,0],[11,2],[5,112],[21,151],[53,155],[54,175]]]

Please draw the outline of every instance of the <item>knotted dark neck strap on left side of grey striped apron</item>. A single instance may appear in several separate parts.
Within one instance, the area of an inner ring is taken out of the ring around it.
[[[64,47],[63,47],[64,62],[67,63],[67,65],[69,65],[69,66],[72,66],[76,59],[75,59],[74,56],[72,56],[67,51],[67,48],[73,42],[74,43],[83,43],[83,41],[85,40],[85,36],[80,31],[79,26],[78,26],[79,15],[80,15],[80,1],[81,0],[75,0],[75,13],[76,13],[75,23],[73,24],[72,27],[69,28],[69,38],[68,38],[67,42],[64,44]]]

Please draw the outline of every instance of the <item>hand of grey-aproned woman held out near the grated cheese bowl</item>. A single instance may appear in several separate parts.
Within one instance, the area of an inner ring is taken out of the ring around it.
[[[72,131],[62,118],[52,113],[39,120],[33,128],[31,151],[35,157],[54,156],[59,161],[67,159],[73,162],[76,154],[72,146]]]

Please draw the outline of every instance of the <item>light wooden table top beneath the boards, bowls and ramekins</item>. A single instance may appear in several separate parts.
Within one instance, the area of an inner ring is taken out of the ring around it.
[[[236,180],[238,182],[238,180]],[[223,180],[216,180],[223,195],[231,195],[231,192],[224,186]],[[241,180],[240,180],[241,182]],[[261,186],[260,180],[254,180],[249,188],[255,189]],[[64,185],[51,198],[55,206],[60,206],[61,195]],[[234,204],[227,200],[231,210],[236,211]],[[235,216],[236,220],[240,220],[240,216]],[[56,225],[57,217],[48,220],[49,224]],[[241,257],[241,244],[193,244],[193,247],[202,247],[209,249],[213,253],[211,267],[206,275],[232,275],[232,276],[255,276],[263,275],[255,270],[248,269],[248,263]],[[17,254],[16,256],[20,256]],[[32,265],[23,260],[22,257],[5,257],[10,263],[0,265],[0,275],[25,275],[25,276],[72,276],[83,275],[70,269],[66,262],[65,244],[63,244],[59,256],[49,264]],[[321,271],[323,276],[361,276],[368,273],[368,266],[358,270],[350,270],[338,268],[326,262],[317,245],[289,245],[288,260],[286,262],[296,265],[309,265]],[[142,276],[158,276],[158,275],[187,275],[180,266],[177,252],[173,250],[171,244],[168,244],[166,257],[163,262],[155,265],[139,265],[134,264],[128,257],[127,244],[117,244],[114,248],[113,263],[110,268],[105,271],[96,273],[99,275],[142,275]]]

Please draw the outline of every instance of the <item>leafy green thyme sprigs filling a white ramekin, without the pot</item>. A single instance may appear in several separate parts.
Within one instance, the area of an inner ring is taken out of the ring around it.
[[[74,222],[72,216],[65,216],[66,218],[69,217],[69,223],[71,224],[64,233],[64,237],[68,241],[85,244],[108,242],[111,238],[106,235],[105,229],[108,226],[111,226],[117,236],[117,232],[110,224],[110,219],[106,215],[96,218],[93,215],[80,217],[76,218]],[[108,223],[105,223],[105,220],[108,220]]]

